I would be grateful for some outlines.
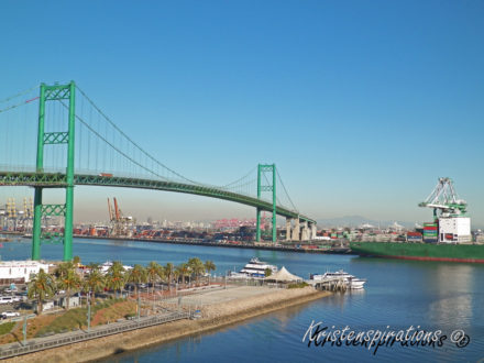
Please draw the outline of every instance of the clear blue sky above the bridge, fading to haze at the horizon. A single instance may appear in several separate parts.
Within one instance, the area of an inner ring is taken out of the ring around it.
[[[314,218],[425,221],[417,204],[450,176],[484,224],[483,18],[482,1],[2,1],[0,99],[74,79],[189,178],[276,163]],[[78,188],[76,217],[113,195],[139,219],[255,215]]]

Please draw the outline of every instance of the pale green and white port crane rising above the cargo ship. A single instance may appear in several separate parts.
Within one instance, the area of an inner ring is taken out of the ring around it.
[[[468,202],[459,199],[451,178],[439,178],[430,196],[418,206],[433,208],[433,217],[437,219],[439,210],[442,217],[465,215]]]

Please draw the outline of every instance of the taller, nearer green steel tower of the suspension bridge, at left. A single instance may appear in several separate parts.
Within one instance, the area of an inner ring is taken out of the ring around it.
[[[37,133],[37,158],[36,174],[44,173],[44,146],[67,144],[66,179],[61,188],[66,189],[64,205],[43,205],[42,191],[45,186],[36,186],[34,195],[34,227],[32,241],[32,260],[41,258],[41,242],[47,238],[42,233],[42,219],[47,216],[64,217],[64,235],[61,233],[48,235],[52,242],[64,242],[64,261],[73,258],[73,210],[74,210],[74,131],[75,131],[75,94],[76,85],[70,81],[67,85],[46,86],[41,84],[38,102],[38,133]],[[45,132],[45,102],[68,102],[67,130]]]

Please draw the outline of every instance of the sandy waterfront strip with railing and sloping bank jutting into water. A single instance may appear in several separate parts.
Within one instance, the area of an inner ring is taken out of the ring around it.
[[[0,358],[18,355],[11,358],[12,362],[73,362],[73,358],[74,362],[99,360],[237,323],[328,295],[330,293],[317,292],[312,287],[287,289],[267,286],[228,286],[209,292],[200,290],[182,297],[185,301],[180,311],[113,322],[91,329],[89,332],[78,330],[35,339],[28,341],[25,346],[9,344],[0,348]],[[174,305],[177,304],[178,298],[164,302]],[[200,310],[201,317],[190,320],[194,318],[195,308]]]

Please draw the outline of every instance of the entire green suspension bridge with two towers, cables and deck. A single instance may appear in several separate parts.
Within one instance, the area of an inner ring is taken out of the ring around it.
[[[299,213],[275,164],[258,164],[224,186],[194,182],[144,151],[74,81],[42,84],[0,100],[0,186],[34,188],[32,260],[41,258],[46,242],[63,243],[64,260],[72,260],[76,185],[176,191],[251,206],[257,241],[262,211],[272,213],[273,242],[277,215],[286,218],[286,240],[316,234],[316,221]],[[44,191],[54,188],[65,189],[63,204],[45,202]],[[53,216],[64,219],[64,233],[54,237],[42,228]]]

